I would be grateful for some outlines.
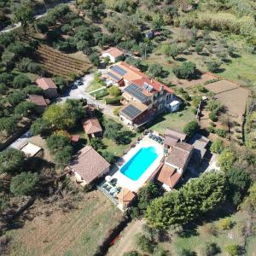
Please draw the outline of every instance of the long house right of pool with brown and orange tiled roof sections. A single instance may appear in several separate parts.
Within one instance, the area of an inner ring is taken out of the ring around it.
[[[193,153],[193,146],[188,143],[178,142],[172,146],[164,164],[155,178],[166,190],[173,189],[179,182]]]

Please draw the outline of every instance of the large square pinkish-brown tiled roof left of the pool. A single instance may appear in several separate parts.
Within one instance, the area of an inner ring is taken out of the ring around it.
[[[91,183],[109,167],[109,163],[94,148],[82,148],[70,163],[69,167],[83,177],[86,183]]]

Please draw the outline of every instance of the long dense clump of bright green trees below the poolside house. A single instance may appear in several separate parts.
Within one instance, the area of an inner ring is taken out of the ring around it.
[[[208,172],[151,201],[144,217],[154,228],[167,230],[172,224],[187,224],[200,218],[225,200],[224,173]]]

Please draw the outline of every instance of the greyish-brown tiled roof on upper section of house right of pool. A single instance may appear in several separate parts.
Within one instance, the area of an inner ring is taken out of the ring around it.
[[[177,143],[167,156],[166,163],[183,169],[189,161],[192,150],[193,146],[188,143]]]

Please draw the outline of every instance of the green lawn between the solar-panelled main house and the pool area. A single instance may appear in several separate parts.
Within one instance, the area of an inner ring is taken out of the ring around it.
[[[150,126],[150,129],[158,131],[160,134],[163,134],[166,128],[183,131],[183,126],[195,119],[195,114],[191,110],[192,107],[176,113],[166,113],[165,115],[159,116],[154,119],[154,123]]]

